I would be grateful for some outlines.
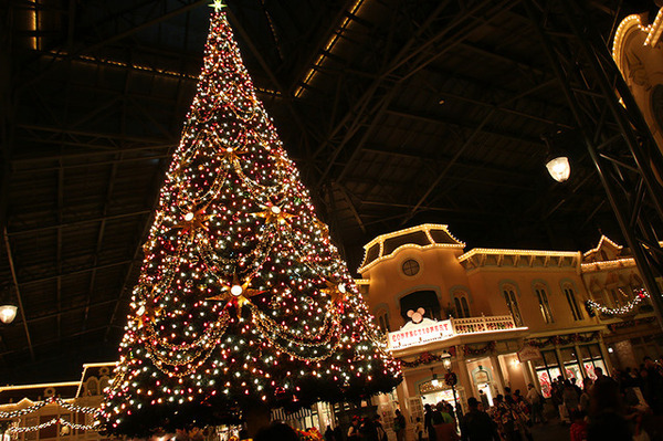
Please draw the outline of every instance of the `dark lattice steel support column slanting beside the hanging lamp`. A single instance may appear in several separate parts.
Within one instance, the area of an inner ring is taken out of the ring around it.
[[[663,156],[585,2],[525,6],[663,327]]]

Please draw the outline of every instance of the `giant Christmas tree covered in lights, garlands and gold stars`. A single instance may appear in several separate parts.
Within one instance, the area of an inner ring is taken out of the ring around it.
[[[356,400],[400,381],[215,3],[102,406],[112,434],[236,421],[256,403]]]

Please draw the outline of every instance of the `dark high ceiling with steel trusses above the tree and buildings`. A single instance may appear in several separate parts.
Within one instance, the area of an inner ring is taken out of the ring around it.
[[[209,0],[10,0],[0,27],[0,382],[115,358],[141,244],[194,93]],[[523,3],[228,0],[259,96],[355,271],[378,234],[444,223],[467,250],[622,239]],[[607,44],[653,2],[588,4]],[[653,17],[653,15],[652,15]],[[540,23],[539,23],[540,24]],[[622,242],[623,243],[623,242]]]

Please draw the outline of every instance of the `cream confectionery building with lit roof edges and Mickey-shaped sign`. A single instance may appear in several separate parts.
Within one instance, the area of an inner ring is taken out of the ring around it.
[[[582,386],[596,368],[663,354],[635,264],[608,238],[586,253],[465,251],[446,225],[422,224],[365,249],[358,283],[402,361],[398,405],[412,419],[454,393],[492,402],[534,384],[549,397],[559,376]]]

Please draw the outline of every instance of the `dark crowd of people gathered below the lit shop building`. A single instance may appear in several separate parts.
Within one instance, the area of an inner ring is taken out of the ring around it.
[[[492,406],[480,392],[478,398],[467,399],[464,416],[445,401],[425,405],[423,421],[418,417],[407,422],[397,410],[391,429],[397,441],[404,441],[407,431],[413,431],[417,441],[534,441],[533,428],[548,423],[566,424],[571,441],[663,441],[662,359],[645,357],[639,368],[615,369],[610,376],[597,367],[594,377],[581,385],[558,377],[547,399],[534,385],[527,388],[526,393],[504,388]],[[347,431],[327,427],[322,437],[325,441],[388,439],[379,416],[355,417]]]

